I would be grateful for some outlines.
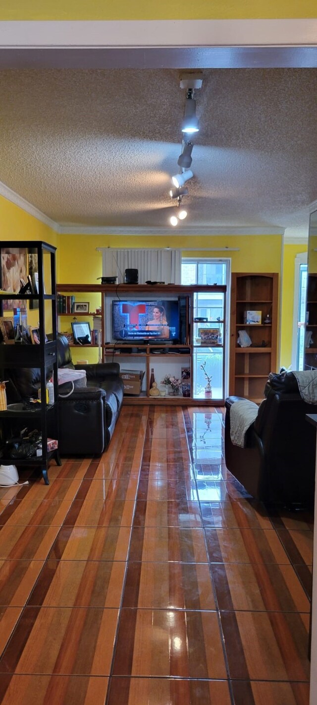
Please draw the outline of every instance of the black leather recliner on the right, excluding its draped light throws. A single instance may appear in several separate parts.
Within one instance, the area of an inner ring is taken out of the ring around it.
[[[270,377],[244,448],[230,439],[230,409],[240,397],[225,400],[225,462],[256,499],[312,507],[316,431],[305,415],[317,405],[304,402],[292,372]]]

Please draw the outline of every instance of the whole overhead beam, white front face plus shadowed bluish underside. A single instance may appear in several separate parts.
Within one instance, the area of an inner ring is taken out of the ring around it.
[[[316,68],[317,18],[4,20],[1,68]]]

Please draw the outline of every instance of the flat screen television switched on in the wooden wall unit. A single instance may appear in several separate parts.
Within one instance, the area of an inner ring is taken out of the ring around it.
[[[179,341],[179,301],[113,301],[112,335],[115,341]]]

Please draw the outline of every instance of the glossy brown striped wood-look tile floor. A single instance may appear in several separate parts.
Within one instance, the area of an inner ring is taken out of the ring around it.
[[[223,410],[124,407],[0,489],[3,705],[308,705],[313,525],[225,468]]]

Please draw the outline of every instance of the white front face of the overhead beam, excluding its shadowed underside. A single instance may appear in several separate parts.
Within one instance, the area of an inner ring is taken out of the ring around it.
[[[313,47],[316,18],[4,20],[0,47]]]

